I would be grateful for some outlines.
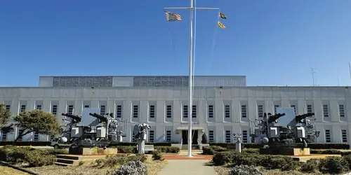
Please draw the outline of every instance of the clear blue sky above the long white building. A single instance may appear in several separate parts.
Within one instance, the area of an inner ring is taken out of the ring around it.
[[[187,75],[188,0],[1,0],[0,86],[39,76]],[[203,0],[195,75],[244,75],[248,85],[350,85],[350,0]],[[217,34],[215,35],[217,31]],[[214,37],[216,36],[216,37]],[[213,44],[216,38],[216,44]],[[214,49],[213,45],[215,45]],[[213,55],[213,56],[211,56]]]

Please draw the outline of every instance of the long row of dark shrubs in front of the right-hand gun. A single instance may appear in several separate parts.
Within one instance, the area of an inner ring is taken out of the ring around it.
[[[223,151],[213,155],[212,162],[214,165],[229,165],[230,167],[247,165],[265,167],[265,169],[280,169],[282,171],[297,170],[304,173],[341,174],[351,170],[351,155],[343,157],[331,156],[326,159],[297,162],[284,155],[260,155],[256,153]]]

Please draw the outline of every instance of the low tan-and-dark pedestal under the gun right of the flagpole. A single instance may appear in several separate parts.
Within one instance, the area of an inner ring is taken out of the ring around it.
[[[260,148],[267,155],[310,155],[310,148]]]

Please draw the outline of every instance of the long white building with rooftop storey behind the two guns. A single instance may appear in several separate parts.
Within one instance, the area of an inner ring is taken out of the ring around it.
[[[149,123],[149,141],[183,139],[186,144],[188,85],[187,76],[40,77],[39,87],[0,87],[0,103],[13,115],[41,109],[60,119],[61,113],[100,108],[127,121],[124,141],[132,140],[135,124]],[[249,120],[280,106],[294,107],[296,114],[314,112],[321,132],[317,142],[350,144],[348,87],[247,87],[245,76],[196,76],[194,86],[194,141],[205,132],[210,142],[230,142],[233,132],[241,132],[250,142]],[[18,129],[0,139],[13,140],[17,134]],[[34,133],[22,138],[48,139]]]

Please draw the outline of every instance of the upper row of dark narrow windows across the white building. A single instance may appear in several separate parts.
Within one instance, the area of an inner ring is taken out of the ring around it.
[[[10,105],[6,105],[6,109],[10,110]],[[89,105],[85,105],[84,108],[89,108]],[[291,108],[294,109],[296,113],[296,105],[291,105]],[[279,105],[274,105],[274,113],[277,113],[277,108],[279,108]],[[37,108],[41,110],[41,105],[37,105]],[[257,111],[258,111],[258,117],[263,118],[264,110],[263,110],[263,105],[258,104],[257,105]],[[26,110],[25,105],[20,106],[20,112],[24,112]],[[339,111],[339,116],[340,118],[345,117],[345,108],[343,104],[338,105],[338,111]],[[51,108],[51,113],[55,114],[58,112],[58,105],[53,105]],[[155,105],[150,105],[149,106],[149,116],[150,118],[154,118],[156,116],[156,106]],[[307,113],[313,113],[312,105],[307,104]],[[67,113],[73,114],[74,113],[74,106],[73,105],[68,105],[67,107]],[[100,106],[100,114],[105,114],[106,113],[106,106],[101,105]],[[122,106],[117,105],[116,109],[116,117],[121,118],[122,116]],[[133,105],[133,118],[138,118],[139,116],[139,106],[138,105]],[[213,105],[208,105],[208,118],[213,118],[214,116],[214,106]],[[224,106],[224,116],[225,118],[230,118],[231,116],[231,109],[230,105],[225,105]],[[329,117],[329,106],[324,104],[323,105],[323,116],[324,118]],[[183,118],[188,117],[188,106],[183,105]],[[193,105],[192,106],[192,118],[197,117],[197,106]],[[246,105],[241,105],[241,118],[246,118],[247,117],[247,106]],[[166,105],[166,118],[172,118],[172,106],[171,105]]]

